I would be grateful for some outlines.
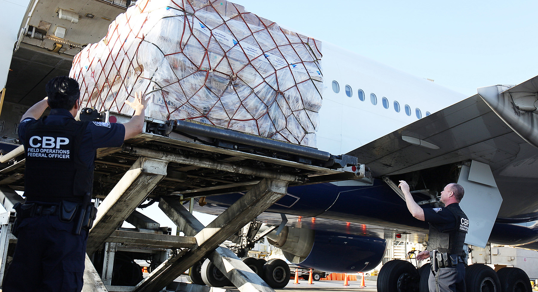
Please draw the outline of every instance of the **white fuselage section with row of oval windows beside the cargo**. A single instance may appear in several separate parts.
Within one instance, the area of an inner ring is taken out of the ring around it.
[[[322,52],[326,88],[316,137],[317,148],[329,153],[348,153],[415,122],[416,109],[425,117],[426,112],[434,113],[468,97],[327,42],[323,42]],[[332,89],[333,81],[338,82],[338,93]],[[346,95],[346,85],[351,87],[351,97]],[[364,101],[358,97],[359,89]],[[371,94],[376,95],[376,105]],[[395,101],[400,112],[394,109]]]

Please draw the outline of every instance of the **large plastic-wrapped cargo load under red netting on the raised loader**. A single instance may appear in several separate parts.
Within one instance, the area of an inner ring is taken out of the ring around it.
[[[323,76],[321,42],[224,1],[139,0],[102,41],[77,54],[70,76],[82,106],[192,119],[315,147]]]

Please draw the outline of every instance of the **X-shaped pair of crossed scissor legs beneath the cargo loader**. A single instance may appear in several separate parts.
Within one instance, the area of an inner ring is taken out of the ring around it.
[[[194,218],[175,198],[161,198],[159,207],[187,236],[194,236],[197,245],[191,250],[184,253],[182,251],[180,254],[163,262],[140,282],[133,291],[158,291],[211,252],[213,253],[210,255],[210,260],[213,259],[211,261],[221,269],[241,292],[273,291],[231,252],[226,253],[222,251],[223,248],[218,248],[216,251],[215,249],[234,232],[251,222],[261,212],[285,196],[288,183],[289,181],[282,180],[261,180],[207,227],[204,227]]]

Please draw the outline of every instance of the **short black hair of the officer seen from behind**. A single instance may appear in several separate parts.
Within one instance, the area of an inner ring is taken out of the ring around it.
[[[79,82],[67,76],[54,77],[47,82],[45,91],[51,109],[71,110],[80,98]]]

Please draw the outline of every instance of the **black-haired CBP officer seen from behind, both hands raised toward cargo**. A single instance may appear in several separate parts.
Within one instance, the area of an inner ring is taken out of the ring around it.
[[[4,292],[82,290],[89,227],[77,234],[74,230],[86,207],[83,198],[91,194],[96,149],[121,146],[144,124],[147,102],[141,92],[125,102],[134,109],[131,120],[115,124],[74,119],[80,109],[74,79],[55,77],[45,90],[48,97],[26,111],[19,125],[26,201],[17,208],[18,241]],[[49,116],[39,118],[47,106]]]

